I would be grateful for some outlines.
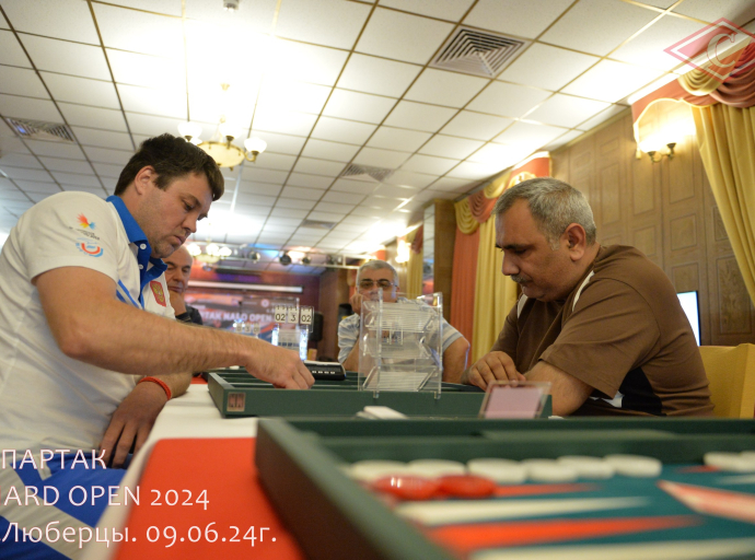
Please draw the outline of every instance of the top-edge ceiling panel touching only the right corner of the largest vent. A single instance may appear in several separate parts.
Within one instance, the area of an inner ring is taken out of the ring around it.
[[[541,40],[605,56],[658,15],[619,0],[580,0]],[[580,32],[574,33],[576,28]]]

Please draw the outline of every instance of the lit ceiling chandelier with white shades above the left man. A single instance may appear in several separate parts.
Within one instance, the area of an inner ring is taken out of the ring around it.
[[[226,92],[229,84],[221,84],[223,92]],[[182,122],[178,125],[178,132],[187,142],[198,145],[212,156],[219,167],[230,167],[233,170],[244,160],[254,163],[257,155],[263,153],[267,148],[267,142],[262,138],[249,137],[244,140],[244,150],[234,145],[232,142],[236,138],[236,131],[226,121],[225,115],[220,116],[218,128],[210,140],[202,141],[201,126],[197,122]]]

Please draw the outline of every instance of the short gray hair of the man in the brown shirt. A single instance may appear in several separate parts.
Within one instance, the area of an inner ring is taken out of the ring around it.
[[[537,226],[550,247],[558,246],[558,238],[570,223],[584,228],[588,245],[595,243],[595,220],[584,195],[571,185],[553,177],[523,180],[503,191],[492,208],[493,215],[509,210],[516,200],[526,200]]]

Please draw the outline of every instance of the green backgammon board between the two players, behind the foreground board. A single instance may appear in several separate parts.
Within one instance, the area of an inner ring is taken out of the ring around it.
[[[433,393],[364,392],[358,374],[344,381],[317,381],[310,390],[276,389],[245,370],[212,370],[208,375],[212,400],[223,418],[248,416],[353,417],[365,406],[385,406],[409,417],[476,418],[485,393],[471,385],[443,383]],[[550,416],[550,400],[542,416]]]

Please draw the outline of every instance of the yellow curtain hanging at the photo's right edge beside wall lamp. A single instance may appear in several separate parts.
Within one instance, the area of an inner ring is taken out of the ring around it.
[[[697,143],[750,299],[755,302],[755,107],[693,107]]]

